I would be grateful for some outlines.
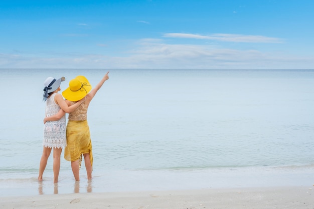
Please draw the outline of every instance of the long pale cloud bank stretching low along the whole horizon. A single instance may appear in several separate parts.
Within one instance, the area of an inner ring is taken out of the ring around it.
[[[110,51],[110,47],[105,47]],[[314,57],[284,51],[238,50],[215,45],[167,44],[141,39],[121,55],[49,53],[0,54],[0,68],[312,68]]]

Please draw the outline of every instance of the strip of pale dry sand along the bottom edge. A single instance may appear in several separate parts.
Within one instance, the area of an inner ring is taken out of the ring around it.
[[[1,208],[314,208],[313,186],[1,197]]]

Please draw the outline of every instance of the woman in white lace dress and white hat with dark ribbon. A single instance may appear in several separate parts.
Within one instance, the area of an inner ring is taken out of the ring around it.
[[[38,180],[43,180],[43,173],[45,171],[48,157],[53,148],[53,172],[54,172],[54,183],[58,182],[58,176],[60,171],[60,156],[62,148],[66,147],[66,123],[65,123],[65,112],[71,112],[77,108],[84,99],[77,102],[74,105],[69,106],[62,95],[58,93],[61,90],[60,83],[64,81],[65,77],[55,79],[48,77],[45,82],[43,100],[46,101],[46,116],[51,116],[61,110],[58,118],[55,121],[44,120],[44,138],[43,138],[43,154],[39,165]]]

